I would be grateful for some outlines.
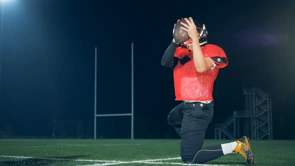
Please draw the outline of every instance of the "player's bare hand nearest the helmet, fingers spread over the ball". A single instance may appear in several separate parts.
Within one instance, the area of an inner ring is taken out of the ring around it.
[[[189,17],[189,18],[184,18],[184,20],[186,21],[187,24],[180,22],[181,25],[183,26],[183,27],[180,27],[180,29],[186,31],[189,38],[192,41],[198,42],[199,34],[195,28],[195,24],[193,22],[193,19],[191,17]]]

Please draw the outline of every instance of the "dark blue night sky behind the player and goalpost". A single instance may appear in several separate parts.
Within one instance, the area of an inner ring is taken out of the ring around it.
[[[172,132],[166,115],[179,101],[174,101],[172,70],[160,66],[160,59],[172,39],[173,24],[192,16],[206,24],[208,42],[221,46],[229,60],[214,83],[213,121],[243,109],[242,89],[258,87],[272,96],[274,138],[290,138],[280,130],[294,128],[278,120],[295,116],[294,5],[292,0],[1,4],[0,130],[11,126],[15,135],[47,136],[53,118],[80,119],[91,135],[95,46],[97,112],[129,113],[134,41],[134,137],[165,137]],[[129,117],[100,122],[104,130],[130,125]],[[129,135],[129,130],[124,132],[123,137]]]

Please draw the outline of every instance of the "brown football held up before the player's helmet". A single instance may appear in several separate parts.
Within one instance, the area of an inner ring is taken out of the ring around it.
[[[187,32],[180,29],[180,27],[184,27],[183,25],[180,24],[180,22],[187,24],[186,21],[184,20],[184,18],[181,18],[175,24],[174,29],[173,29],[173,37],[174,37],[176,43],[182,43],[182,42],[187,41],[189,39]]]

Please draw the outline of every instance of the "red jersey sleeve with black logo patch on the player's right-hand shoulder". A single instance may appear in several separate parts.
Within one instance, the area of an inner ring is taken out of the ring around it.
[[[202,52],[204,57],[209,57],[216,64],[214,68],[223,68],[228,64],[225,52],[217,45],[207,44]]]

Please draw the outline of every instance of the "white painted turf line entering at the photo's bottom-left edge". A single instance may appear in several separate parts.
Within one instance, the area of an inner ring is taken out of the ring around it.
[[[0,157],[7,158],[36,158],[36,159],[49,159],[49,160],[62,160],[62,161],[89,161],[89,162],[118,162],[116,160],[96,160],[96,159],[67,159],[67,158],[47,158],[47,157],[31,157],[31,156],[12,156],[12,155],[0,155]]]

